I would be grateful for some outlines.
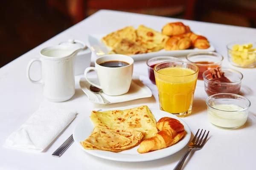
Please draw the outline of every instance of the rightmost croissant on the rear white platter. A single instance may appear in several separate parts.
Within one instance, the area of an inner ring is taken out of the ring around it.
[[[209,41],[204,36],[189,32],[186,33],[186,37],[189,37],[189,39],[192,40],[192,45],[195,48],[206,49],[210,47]]]

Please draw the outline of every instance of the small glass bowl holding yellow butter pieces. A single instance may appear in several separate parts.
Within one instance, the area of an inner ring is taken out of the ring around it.
[[[253,45],[252,48],[256,48],[256,43],[249,41],[234,41],[227,45],[228,61],[232,65],[242,68],[253,68],[256,66],[256,51],[244,52],[233,50],[233,45],[244,45],[249,43]]]

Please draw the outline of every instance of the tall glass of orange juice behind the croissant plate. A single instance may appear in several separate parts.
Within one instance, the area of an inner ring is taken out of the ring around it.
[[[195,64],[175,60],[154,67],[161,110],[180,117],[191,113],[198,71]]]

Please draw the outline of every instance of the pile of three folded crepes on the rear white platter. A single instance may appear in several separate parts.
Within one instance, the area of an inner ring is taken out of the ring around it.
[[[110,54],[143,54],[163,49],[168,36],[140,25],[137,29],[128,26],[112,32],[102,41],[112,49]]]

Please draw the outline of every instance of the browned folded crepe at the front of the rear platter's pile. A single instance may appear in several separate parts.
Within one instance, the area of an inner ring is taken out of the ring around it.
[[[128,39],[122,39],[119,43],[115,45],[115,47],[112,51],[109,52],[109,54],[133,55],[147,53],[147,51],[147,48],[137,44],[136,42]]]

